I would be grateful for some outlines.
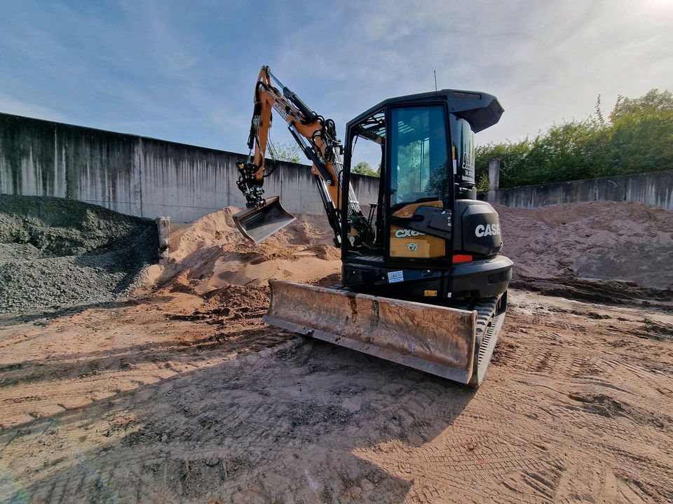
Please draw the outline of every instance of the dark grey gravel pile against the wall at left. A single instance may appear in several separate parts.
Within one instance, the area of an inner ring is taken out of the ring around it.
[[[156,261],[156,225],[95,205],[0,195],[0,314],[115,300]]]

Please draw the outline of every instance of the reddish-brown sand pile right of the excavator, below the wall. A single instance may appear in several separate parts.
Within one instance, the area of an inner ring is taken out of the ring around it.
[[[599,290],[617,297],[671,294],[673,212],[616,202],[494,207],[503,253],[515,262],[515,286],[566,286],[592,297]]]

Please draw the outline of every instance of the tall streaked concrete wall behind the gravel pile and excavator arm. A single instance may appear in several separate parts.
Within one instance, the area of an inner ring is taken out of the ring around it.
[[[243,207],[236,160],[243,154],[0,113],[0,193],[56,196],[140,217],[189,222]],[[362,203],[378,179],[353,176]],[[264,184],[290,212],[323,214],[310,168],[280,163]]]

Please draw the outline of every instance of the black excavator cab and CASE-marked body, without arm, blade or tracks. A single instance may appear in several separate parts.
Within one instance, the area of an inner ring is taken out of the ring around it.
[[[385,100],[346,126],[344,197],[352,200],[353,148],[381,151],[378,198],[362,218],[344,207],[344,284],[389,297],[450,304],[501,295],[512,262],[499,255],[498,214],[476,200],[475,133],[503,109],[482,92],[440,90]],[[390,281],[393,279],[394,281]]]

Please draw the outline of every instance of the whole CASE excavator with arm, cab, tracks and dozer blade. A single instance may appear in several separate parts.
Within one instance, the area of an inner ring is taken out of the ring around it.
[[[329,288],[271,279],[264,322],[479,386],[512,278],[498,214],[475,190],[474,136],[500,120],[498,99],[448,89],[386,99],[346,125],[342,145],[334,121],[263,66],[249,153],[238,162],[246,209],[234,216],[255,243],[294,221],[279,197],[264,195],[273,111],[312,164],[342,275]],[[366,211],[351,183],[358,142],[381,156]]]

